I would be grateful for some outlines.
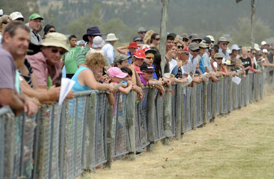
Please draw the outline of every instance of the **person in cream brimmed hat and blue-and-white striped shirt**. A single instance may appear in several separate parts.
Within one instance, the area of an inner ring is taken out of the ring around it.
[[[108,63],[113,67],[113,60],[115,57],[115,50],[114,50],[114,44],[115,42],[119,40],[119,38],[116,38],[114,33],[109,33],[106,38],[106,44],[103,46],[102,50],[106,53],[106,59]]]

